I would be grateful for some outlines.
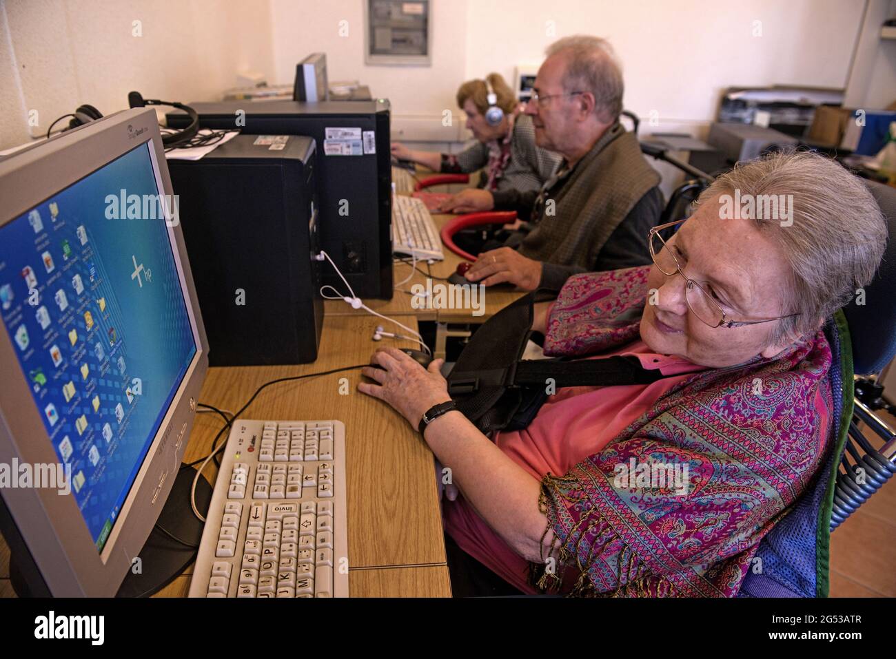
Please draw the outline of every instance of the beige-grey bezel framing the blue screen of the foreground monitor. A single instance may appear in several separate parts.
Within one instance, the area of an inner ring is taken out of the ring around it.
[[[134,108],[90,122],[0,161],[0,230],[14,218],[134,148],[150,142],[156,184],[173,194],[156,113]],[[196,354],[159,425],[102,552],[73,496],[6,488],[4,503],[53,595],[112,596],[139,556],[168,499],[208,369],[208,340],[177,222],[168,222]],[[0,332],[0,462],[58,463],[8,332]],[[31,441],[33,439],[37,441]],[[185,514],[190,514],[185,506]]]

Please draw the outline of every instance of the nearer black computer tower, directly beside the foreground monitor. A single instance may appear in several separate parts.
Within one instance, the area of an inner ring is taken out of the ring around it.
[[[314,140],[237,135],[168,160],[211,366],[306,364],[323,326]]]

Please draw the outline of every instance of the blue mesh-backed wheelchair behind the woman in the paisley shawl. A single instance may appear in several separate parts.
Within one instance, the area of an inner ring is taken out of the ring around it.
[[[855,373],[880,372],[896,355],[896,189],[866,181],[883,211],[889,240],[866,304],[853,299],[827,322],[831,345],[833,400],[831,451],[814,483],[762,538],[738,596],[826,597],[829,589],[830,534],[880,489],[896,466],[890,428],[855,398]],[[859,431],[863,421],[877,435]]]

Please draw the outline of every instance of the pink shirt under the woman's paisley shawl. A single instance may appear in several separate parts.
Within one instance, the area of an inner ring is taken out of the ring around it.
[[[539,482],[548,473],[564,475],[599,453],[669,389],[705,368],[682,357],[651,353],[640,339],[597,356],[609,355],[635,355],[643,368],[659,369],[670,377],[650,384],[557,389],[528,428],[495,433],[495,444]],[[456,501],[444,501],[442,519],[445,532],[464,552],[522,592],[537,592],[529,584],[529,563],[495,534],[462,495]]]

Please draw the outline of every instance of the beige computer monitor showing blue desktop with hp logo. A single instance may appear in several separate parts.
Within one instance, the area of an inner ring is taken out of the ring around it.
[[[0,522],[32,594],[115,595],[181,465],[208,360],[171,193],[149,108],[0,162]]]

